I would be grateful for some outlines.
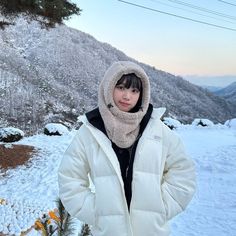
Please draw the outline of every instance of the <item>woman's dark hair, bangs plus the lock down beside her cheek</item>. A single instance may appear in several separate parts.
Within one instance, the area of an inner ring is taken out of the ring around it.
[[[142,91],[143,91],[143,89],[142,89],[141,79],[134,73],[126,74],[126,75],[122,75],[122,77],[117,81],[116,86],[120,85],[120,84],[124,85],[124,87],[127,89],[135,88],[140,91],[140,96],[137,101],[137,104],[129,112],[134,113],[134,112],[139,111],[142,108],[141,104],[142,104]]]

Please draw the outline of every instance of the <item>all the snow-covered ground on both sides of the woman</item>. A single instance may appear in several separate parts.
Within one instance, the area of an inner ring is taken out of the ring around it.
[[[0,198],[7,201],[0,204],[0,232],[19,235],[55,208],[57,168],[74,132],[17,142],[39,151],[29,165],[0,173]],[[236,129],[181,126],[176,132],[196,163],[198,188],[187,210],[172,220],[172,236],[236,235]]]

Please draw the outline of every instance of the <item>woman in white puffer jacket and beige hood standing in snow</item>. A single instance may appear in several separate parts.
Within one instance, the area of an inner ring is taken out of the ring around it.
[[[94,236],[169,235],[168,221],[193,196],[193,162],[160,121],[165,109],[153,109],[149,100],[144,70],[114,63],[100,84],[98,108],[80,117],[83,125],[62,159],[61,201]]]

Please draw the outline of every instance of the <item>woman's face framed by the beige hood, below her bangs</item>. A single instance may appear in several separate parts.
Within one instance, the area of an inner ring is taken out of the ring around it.
[[[121,110],[128,112],[135,107],[140,96],[137,88],[126,88],[124,84],[116,85],[113,92],[113,100],[116,106]]]

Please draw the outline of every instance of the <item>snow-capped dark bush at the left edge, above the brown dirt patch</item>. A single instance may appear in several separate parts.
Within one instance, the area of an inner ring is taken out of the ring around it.
[[[0,128],[0,141],[2,142],[16,142],[24,137],[24,132],[14,127]]]

